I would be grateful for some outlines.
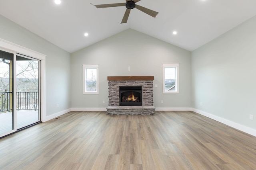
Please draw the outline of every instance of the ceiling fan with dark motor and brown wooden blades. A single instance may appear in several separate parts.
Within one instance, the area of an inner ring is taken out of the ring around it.
[[[150,10],[148,8],[145,8],[143,6],[139,6],[137,4],[135,4],[136,2],[139,2],[140,0],[126,0],[126,3],[116,3],[116,4],[100,4],[100,5],[94,5],[96,6],[96,8],[108,8],[108,7],[116,7],[116,6],[126,6],[126,11],[124,13],[124,17],[121,21],[121,23],[126,23],[130,14],[130,10],[133,8],[137,8],[138,10],[152,16],[152,17],[156,17],[158,12]]]

